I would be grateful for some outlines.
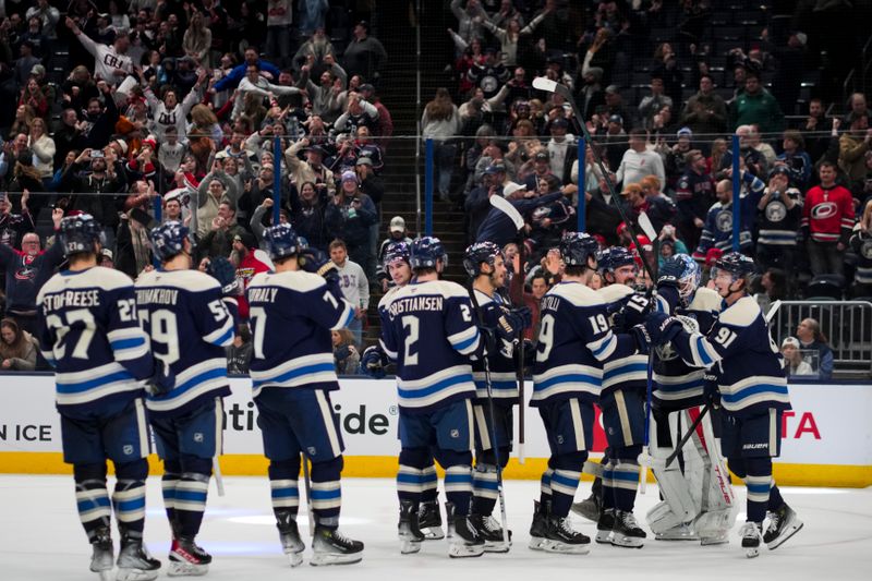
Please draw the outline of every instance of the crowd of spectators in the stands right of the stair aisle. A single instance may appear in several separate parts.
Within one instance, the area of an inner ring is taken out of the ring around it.
[[[651,218],[656,259],[685,252],[707,268],[734,246],[738,187],[736,242],[764,280],[780,281],[761,293],[812,298],[825,283],[838,296],[872,295],[865,96],[832,104],[813,93],[798,109],[803,73],[816,62],[806,47],[823,33],[767,26],[732,45],[718,38],[716,53],[705,33],[712,10],[705,0],[602,1],[590,10],[452,0],[455,85],[427,104],[422,125],[436,143],[438,193],[463,207],[468,241],[514,239],[488,203],[508,198],[528,222],[529,281],[561,232],[576,228],[583,195],[586,230],[604,247],[631,244],[620,205],[630,222],[642,211]],[[674,40],[646,36],[669,22]],[[715,60],[725,70],[715,71]],[[627,83],[640,74],[646,87]],[[535,89],[536,76],[566,85],[579,114],[559,93]],[[582,124],[593,143],[580,168]],[[640,241],[645,251],[652,242]]]

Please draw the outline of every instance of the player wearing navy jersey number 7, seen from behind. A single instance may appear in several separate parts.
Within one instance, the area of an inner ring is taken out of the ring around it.
[[[342,298],[336,266],[305,247],[290,225],[269,228],[264,240],[276,270],[255,275],[246,295],[254,402],[279,537],[291,566],[300,565],[305,548],[296,525],[302,453],[312,461],[310,564],[358,562],[363,543],[339,531],[344,445],[330,403],[330,391],[339,389],[330,330],[347,327],[354,307]]]

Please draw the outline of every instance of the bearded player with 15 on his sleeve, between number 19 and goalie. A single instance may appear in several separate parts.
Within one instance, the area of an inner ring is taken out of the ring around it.
[[[622,246],[604,250],[598,256],[603,287],[597,291],[606,304],[613,332],[626,334],[644,322],[649,301],[633,290],[637,264]],[[603,364],[600,409],[606,433],[606,462],[602,476],[602,512],[596,523],[596,542],[622,547],[641,547],[645,532],[633,516],[639,486],[639,455],[645,440],[645,390],[647,355],[613,355]]]

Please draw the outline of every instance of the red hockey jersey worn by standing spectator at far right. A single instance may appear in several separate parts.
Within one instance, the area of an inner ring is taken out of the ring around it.
[[[853,197],[851,193],[834,185],[824,190],[815,185],[806,193],[800,228],[806,238],[815,242],[848,243],[853,229]]]

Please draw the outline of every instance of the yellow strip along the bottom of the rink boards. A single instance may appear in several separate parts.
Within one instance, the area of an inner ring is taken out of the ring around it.
[[[164,467],[157,456],[148,457],[152,474],[161,474]],[[537,480],[545,470],[545,458],[528,458],[519,464],[509,460],[506,477]],[[398,461],[392,456],[347,456],[342,475],[348,477],[392,479]],[[265,476],[268,461],[263,456],[229,453],[221,457],[221,472],[228,476]],[[111,467],[110,467],[111,469]],[[775,481],[784,486],[846,486],[862,488],[872,485],[872,465],[784,464],[775,463]],[[72,474],[60,452],[0,452],[0,473],[7,474]],[[441,471],[439,472],[441,476]],[[592,476],[582,474],[584,480]],[[654,477],[649,471],[649,482]],[[739,482],[738,479],[736,482]]]

